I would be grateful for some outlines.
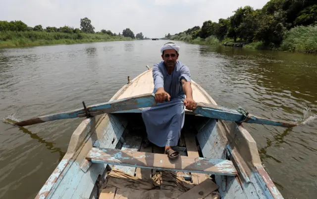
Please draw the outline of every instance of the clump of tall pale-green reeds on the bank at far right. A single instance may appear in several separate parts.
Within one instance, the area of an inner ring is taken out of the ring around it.
[[[297,26],[290,29],[281,44],[281,49],[317,53],[317,26]]]

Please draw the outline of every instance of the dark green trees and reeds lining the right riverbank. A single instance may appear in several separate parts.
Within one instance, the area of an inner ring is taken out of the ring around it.
[[[205,21],[164,39],[207,45],[246,42],[244,48],[317,53],[317,1],[270,0],[261,9],[239,7],[218,23]]]

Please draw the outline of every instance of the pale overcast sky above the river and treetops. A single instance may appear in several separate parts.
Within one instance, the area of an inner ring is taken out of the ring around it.
[[[238,7],[262,8],[269,0],[1,0],[0,20],[21,20],[28,26],[41,24],[80,28],[80,19],[88,17],[95,31],[122,33],[130,28],[149,38],[162,38],[202,26],[204,21],[218,22]]]

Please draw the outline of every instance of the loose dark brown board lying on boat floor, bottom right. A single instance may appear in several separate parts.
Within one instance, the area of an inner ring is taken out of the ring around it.
[[[177,199],[204,199],[210,195],[211,192],[217,190],[219,187],[211,180],[207,179],[200,184],[196,185],[193,189],[185,192],[177,197]]]

